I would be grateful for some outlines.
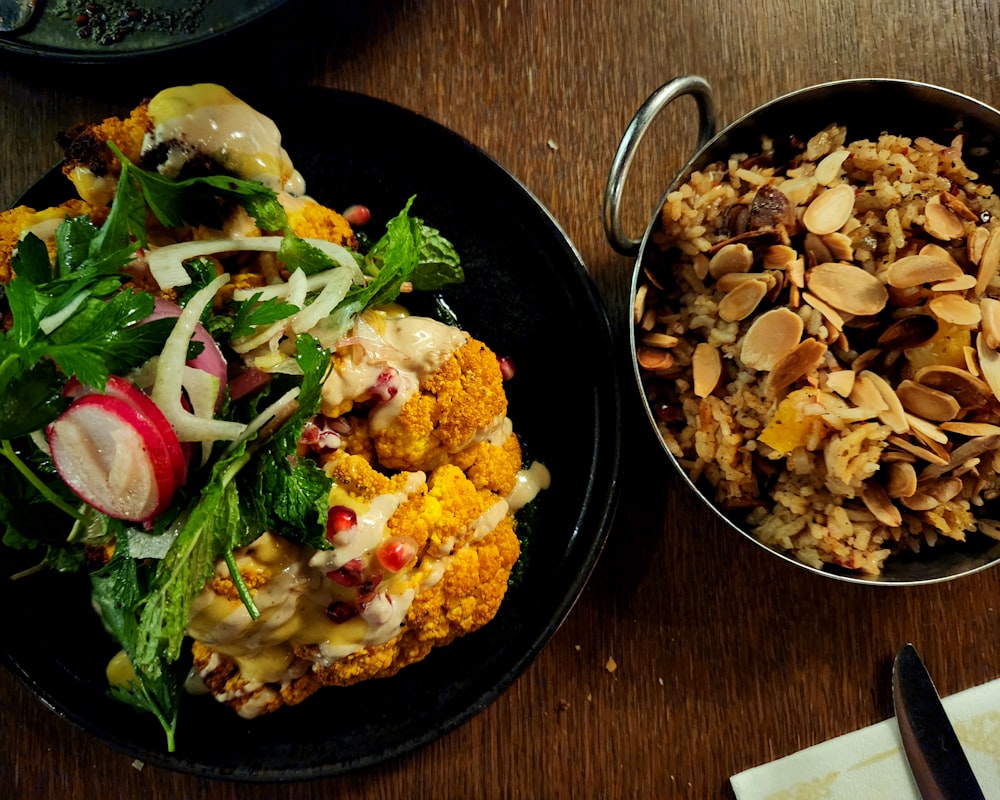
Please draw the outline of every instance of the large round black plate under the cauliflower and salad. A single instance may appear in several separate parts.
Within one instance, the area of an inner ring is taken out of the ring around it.
[[[296,780],[426,744],[484,709],[528,667],[572,608],[611,522],[618,382],[608,321],[573,245],[487,155],[434,122],[360,95],[239,94],[278,123],[318,200],[334,208],[364,203],[384,222],[416,195],[414,213],[455,243],[466,283],[445,299],[472,335],[514,359],[510,416],[552,473],[523,578],[490,624],[393,678],[325,689],[251,722],[210,698],[185,697],[173,755],[155,720],[106,698],[103,673],[114,647],[72,576],[0,581],[0,606],[31,610],[9,615],[0,648],[44,703],[144,762],[215,778]],[[53,171],[21,202],[43,207],[68,189]]]

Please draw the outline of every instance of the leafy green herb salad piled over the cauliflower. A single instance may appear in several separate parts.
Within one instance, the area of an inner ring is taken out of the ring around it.
[[[80,569],[88,547],[115,544],[110,560],[90,575],[103,624],[132,669],[111,693],[153,713],[173,750],[185,628],[191,602],[216,562],[230,564],[253,616],[234,550],[270,528],[294,541],[329,546],[324,532],[330,479],[314,461],[294,454],[303,425],[318,413],[330,352],[308,333],[299,334],[294,360],[301,374],[275,375],[256,396],[222,403],[217,418],[249,423],[269,403],[294,397],[290,412],[264,427],[251,426],[237,441],[209,443],[204,463],[194,460],[169,508],[143,527],[144,536],[164,537],[160,557],[129,546],[134,523],[81,504],[54,469],[44,430],[72,402],[71,379],[100,392],[111,376],[138,374],[164,351],[176,318],[151,321],[153,296],[126,286],[132,279],[126,268],[149,245],[149,214],[176,228],[218,221],[237,204],[262,230],[284,237],[278,258],[290,271],[308,276],[338,265],[291,232],[277,196],[262,184],[228,176],[170,180],[115,153],[122,170],[104,223],[86,216],[64,220],[54,260],[28,234],[12,261],[16,277],[0,286],[0,303],[13,319],[0,334],[0,533],[5,545],[40,549],[42,564],[60,570]],[[353,254],[366,279],[351,286],[333,318],[349,322],[394,300],[407,283],[434,290],[463,279],[454,248],[412,216],[412,204],[410,198],[366,252]],[[191,285],[182,287],[181,305],[215,279],[213,264],[197,258],[184,264]],[[221,312],[209,304],[201,322],[225,347],[300,310],[285,299],[261,297],[232,302]],[[188,357],[201,347],[192,342]],[[31,509],[40,506],[63,514],[72,533],[52,538],[35,530]]]

